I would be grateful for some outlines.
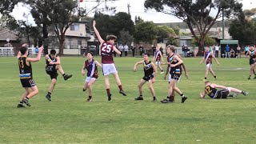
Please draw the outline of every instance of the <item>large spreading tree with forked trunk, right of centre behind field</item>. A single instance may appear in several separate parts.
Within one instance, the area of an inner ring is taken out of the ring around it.
[[[242,10],[242,4],[237,0],[146,0],[144,6],[146,9],[174,15],[186,22],[201,50],[206,34],[222,14],[229,18],[231,14]],[[199,34],[195,33],[194,28]]]

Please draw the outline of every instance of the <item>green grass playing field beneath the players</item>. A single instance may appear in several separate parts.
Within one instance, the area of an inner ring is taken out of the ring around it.
[[[99,58],[95,58],[99,60]],[[166,58],[165,58],[166,59]],[[81,74],[85,58],[62,58],[62,67],[73,77],[58,83],[52,102],[45,98],[50,78],[45,61],[33,63],[34,81],[39,94],[30,99],[31,107],[16,108],[24,92],[18,78],[16,58],[0,58],[0,143],[255,143],[256,90],[254,79],[247,80],[249,60],[218,58],[214,70],[220,85],[246,90],[248,96],[225,100],[200,99],[205,65],[201,58],[185,58],[190,78],[184,76],[178,87],[188,97],[171,104],[166,98],[167,82],[158,74],[154,90],[158,102],[151,102],[147,84],[144,101],[138,97],[138,82],[142,66],[133,72],[134,62],[142,58],[115,58],[118,74],[127,97],[118,94],[114,77],[110,77],[112,100],[107,101],[102,74],[94,83],[93,102],[86,102],[88,92],[82,92]],[[101,69],[99,68],[99,71]],[[209,75],[209,80],[214,78]]]

